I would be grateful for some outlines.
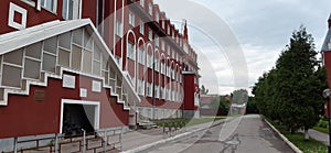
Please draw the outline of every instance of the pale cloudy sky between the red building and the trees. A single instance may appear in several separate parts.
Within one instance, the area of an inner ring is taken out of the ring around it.
[[[291,33],[301,24],[312,34],[320,51],[331,12],[331,0],[154,2],[169,19],[188,20],[190,44],[199,54],[200,84],[211,94],[222,95],[253,86],[264,72],[275,66]]]

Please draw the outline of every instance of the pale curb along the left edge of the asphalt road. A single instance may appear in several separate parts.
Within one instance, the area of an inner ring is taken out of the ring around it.
[[[223,121],[221,121],[221,122],[223,122]],[[193,133],[196,133],[196,132],[206,130],[206,129],[209,129],[209,128],[210,128],[210,127],[199,128],[199,129],[195,129],[195,130],[192,130],[192,131],[189,131],[189,132],[184,132],[184,133],[174,135],[174,136],[172,136],[172,138],[168,138],[168,139],[163,139],[163,140],[160,140],[160,141],[153,142],[153,143],[150,143],[150,144],[141,145],[141,146],[139,146],[139,147],[131,149],[131,150],[128,150],[128,151],[122,151],[121,153],[136,153],[136,152],[141,152],[141,151],[148,150],[148,149],[150,149],[150,147],[153,147],[153,146],[156,146],[156,145],[159,145],[159,144],[162,144],[162,143],[167,143],[167,142],[170,142],[170,141],[173,141],[173,140],[177,140],[177,139],[180,139],[180,138],[183,138],[183,136],[188,136],[188,135],[191,135],[191,134],[193,134]]]

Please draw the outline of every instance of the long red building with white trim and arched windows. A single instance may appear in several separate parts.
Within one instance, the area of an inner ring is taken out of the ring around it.
[[[199,116],[188,26],[177,30],[152,0],[1,0],[1,9],[0,139]]]

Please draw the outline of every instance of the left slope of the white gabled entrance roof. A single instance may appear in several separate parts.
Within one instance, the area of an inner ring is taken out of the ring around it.
[[[21,31],[2,34],[0,35],[0,55],[88,24],[94,26],[89,19],[71,21],[56,20]]]

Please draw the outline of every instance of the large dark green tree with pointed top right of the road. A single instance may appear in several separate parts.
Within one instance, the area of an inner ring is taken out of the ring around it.
[[[311,34],[300,26],[292,33],[276,67],[264,74],[253,88],[263,114],[279,120],[291,132],[303,128],[306,139],[308,129],[319,121],[324,102],[321,92],[328,87],[325,69],[316,55]]]

